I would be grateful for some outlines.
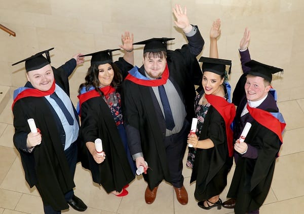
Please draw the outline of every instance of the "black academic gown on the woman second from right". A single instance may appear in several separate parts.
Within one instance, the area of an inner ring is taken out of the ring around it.
[[[197,149],[190,183],[196,181],[194,196],[203,201],[219,195],[227,185],[227,174],[233,164],[229,157],[225,121],[211,105],[205,117],[199,140],[210,138],[210,149]]]

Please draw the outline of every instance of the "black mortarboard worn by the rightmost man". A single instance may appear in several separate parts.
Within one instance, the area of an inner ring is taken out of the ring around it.
[[[281,74],[283,74],[284,71],[282,68],[263,64],[255,60],[250,60],[249,62],[246,62],[245,65],[251,68],[248,72],[249,75],[262,77],[270,83],[272,81],[273,74],[276,74],[278,72],[281,72]]]

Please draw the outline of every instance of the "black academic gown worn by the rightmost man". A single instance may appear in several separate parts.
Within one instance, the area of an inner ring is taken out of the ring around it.
[[[229,198],[236,198],[235,213],[245,213],[259,209],[264,202],[274,174],[276,155],[280,150],[278,135],[257,123],[247,113],[242,118],[241,113],[247,102],[242,99],[237,108],[235,121],[236,134],[240,133],[246,122],[252,124],[245,142],[258,150],[256,159],[239,156],[233,180],[227,194]],[[257,107],[268,112],[278,112],[276,101],[269,93],[267,98]]]

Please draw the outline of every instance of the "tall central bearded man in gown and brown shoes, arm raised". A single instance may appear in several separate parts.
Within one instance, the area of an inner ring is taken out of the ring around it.
[[[179,203],[186,204],[182,158],[186,149],[189,121],[194,117],[194,85],[202,72],[196,59],[204,45],[197,26],[189,24],[186,10],[173,9],[175,24],[183,29],[188,44],[174,51],[167,42],[173,38],[153,38],[135,43],[145,45],[143,65],[130,70],[123,83],[123,113],[128,142],[136,166],[150,168],[143,174],[147,182],[145,202],[155,201],[159,184],[172,184]]]

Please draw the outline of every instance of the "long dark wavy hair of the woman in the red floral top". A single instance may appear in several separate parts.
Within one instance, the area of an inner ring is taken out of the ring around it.
[[[120,69],[118,68],[118,66],[115,63],[109,63],[111,65],[111,67],[113,68],[114,71],[114,77],[113,80],[111,82],[111,86],[119,89],[121,86],[121,82],[123,80],[122,74],[120,72]],[[103,93],[98,89],[100,86],[100,81],[98,79],[98,74],[99,74],[99,69],[98,69],[98,65],[93,64],[89,67],[87,75],[85,77],[86,82],[82,83],[79,86],[78,89],[78,93],[81,92],[81,89],[85,86],[86,87],[86,91],[89,90],[90,87],[94,87],[95,90],[101,95],[103,96]]]

